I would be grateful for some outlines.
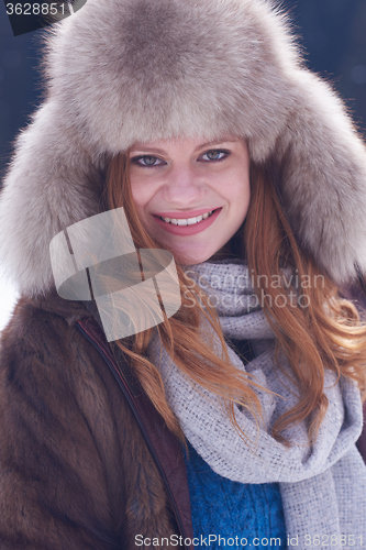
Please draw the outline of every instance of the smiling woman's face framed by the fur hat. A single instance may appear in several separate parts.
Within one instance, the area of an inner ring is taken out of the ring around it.
[[[132,196],[145,229],[181,264],[209,260],[246,217],[249,155],[240,138],[135,143],[130,169]]]

